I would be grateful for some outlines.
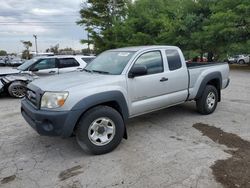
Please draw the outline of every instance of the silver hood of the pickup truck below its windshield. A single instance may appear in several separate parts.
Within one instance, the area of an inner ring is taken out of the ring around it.
[[[65,91],[78,85],[93,84],[112,75],[104,75],[88,72],[71,72],[56,76],[40,78],[31,82],[32,85],[39,87],[43,91]]]

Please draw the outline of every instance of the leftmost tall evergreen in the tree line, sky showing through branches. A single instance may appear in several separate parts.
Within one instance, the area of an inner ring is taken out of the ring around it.
[[[80,10],[81,20],[77,22],[83,25],[88,32],[88,39],[82,43],[94,43],[96,52],[115,48],[117,35],[113,28],[126,18],[127,0],[87,0]]]

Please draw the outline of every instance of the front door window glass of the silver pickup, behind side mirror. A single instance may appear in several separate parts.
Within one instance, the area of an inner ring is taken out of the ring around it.
[[[142,54],[135,62],[134,66],[146,66],[149,74],[163,72],[163,61],[160,51],[147,52]]]

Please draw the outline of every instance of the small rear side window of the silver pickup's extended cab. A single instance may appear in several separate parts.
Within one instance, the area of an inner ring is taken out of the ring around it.
[[[169,70],[173,71],[181,68],[181,58],[177,50],[166,50]]]

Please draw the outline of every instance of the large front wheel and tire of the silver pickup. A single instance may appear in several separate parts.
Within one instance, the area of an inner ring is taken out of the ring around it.
[[[81,117],[76,129],[76,140],[87,153],[105,154],[120,144],[124,130],[119,112],[108,106],[97,106]]]

